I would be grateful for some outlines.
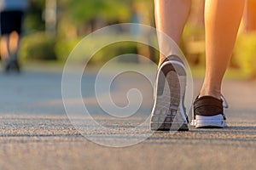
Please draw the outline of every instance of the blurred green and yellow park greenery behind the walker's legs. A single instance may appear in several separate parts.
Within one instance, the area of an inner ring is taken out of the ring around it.
[[[204,0],[193,1],[181,44],[192,72],[199,77],[203,76],[205,66],[203,7]],[[20,43],[20,59],[23,65],[64,65],[72,49],[90,32],[125,22],[154,26],[153,11],[153,0],[30,0]],[[115,56],[128,53],[143,54],[154,62],[158,60],[154,49],[124,42],[102,48],[90,59],[90,65],[102,65]],[[233,55],[227,77],[256,79],[255,0],[247,0]],[[86,57],[81,61],[86,61]],[[132,62],[140,61],[133,59]]]

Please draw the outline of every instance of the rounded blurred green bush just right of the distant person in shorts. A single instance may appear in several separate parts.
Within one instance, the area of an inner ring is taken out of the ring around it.
[[[20,57],[24,59],[57,59],[55,54],[55,39],[48,37],[44,32],[26,36],[21,41]]]

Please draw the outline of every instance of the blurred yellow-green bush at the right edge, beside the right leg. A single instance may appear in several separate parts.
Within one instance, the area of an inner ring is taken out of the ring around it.
[[[256,77],[256,33],[243,33],[236,42],[234,62],[247,77]]]

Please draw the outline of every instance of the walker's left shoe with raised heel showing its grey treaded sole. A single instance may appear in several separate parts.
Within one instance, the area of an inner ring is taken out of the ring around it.
[[[183,105],[185,88],[185,66],[176,55],[171,55],[164,60],[157,72],[151,130],[189,130],[188,116]]]

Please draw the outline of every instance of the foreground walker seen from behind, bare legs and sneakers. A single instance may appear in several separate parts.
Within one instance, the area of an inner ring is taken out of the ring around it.
[[[192,0],[154,0],[156,28],[171,37],[177,45],[189,17],[191,3]],[[221,85],[235,46],[244,5],[245,0],[205,1],[207,63],[201,92],[194,102],[191,124],[195,127],[226,127],[224,108],[228,106],[223,105],[225,99],[221,94]],[[158,38],[160,50],[171,45],[166,44],[161,35]],[[178,55],[178,51],[172,51],[170,56],[160,54],[150,122],[153,130],[189,130],[188,116],[183,107],[186,83],[183,77],[186,77],[186,71]]]

